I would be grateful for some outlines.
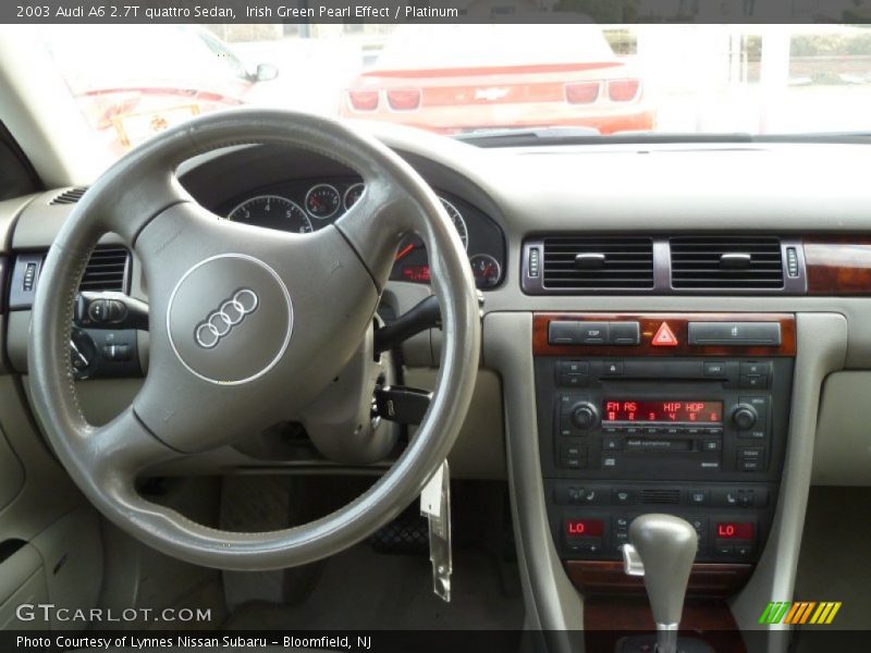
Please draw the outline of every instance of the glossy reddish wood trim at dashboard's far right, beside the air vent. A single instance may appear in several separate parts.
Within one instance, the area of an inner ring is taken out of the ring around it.
[[[871,236],[805,238],[809,295],[871,295]]]

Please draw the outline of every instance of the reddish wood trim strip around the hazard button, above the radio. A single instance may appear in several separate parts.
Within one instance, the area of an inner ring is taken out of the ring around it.
[[[551,345],[548,342],[548,324],[551,320],[612,321],[631,320],[641,324],[641,344],[630,345]],[[662,322],[667,322],[677,336],[676,347],[653,347],[651,341]],[[782,343],[780,347],[747,346],[732,347],[687,344],[689,322],[780,322]],[[536,356],[795,356],[796,318],[793,313],[557,313],[537,312],[532,316],[532,353]]]

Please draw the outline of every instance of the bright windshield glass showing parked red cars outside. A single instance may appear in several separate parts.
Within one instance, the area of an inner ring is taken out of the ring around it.
[[[100,147],[255,106],[444,135],[871,131],[850,25],[127,25],[39,32]]]

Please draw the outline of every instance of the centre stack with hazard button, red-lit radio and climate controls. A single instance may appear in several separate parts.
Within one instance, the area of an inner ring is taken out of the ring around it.
[[[536,396],[561,558],[618,560],[631,520],[686,519],[697,563],[755,563],[786,447],[786,313],[539,313]]]

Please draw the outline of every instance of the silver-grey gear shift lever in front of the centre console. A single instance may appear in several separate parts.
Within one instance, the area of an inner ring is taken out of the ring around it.
[[[677,651],[677,625],[697,546],[696,531],[679,517],[641,515],[629,525],[623,559],[626,574],[645,577],[658,653]]]

